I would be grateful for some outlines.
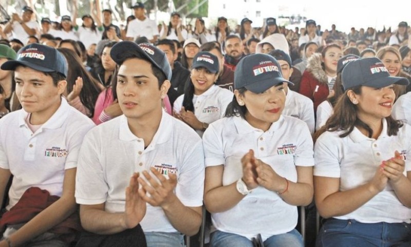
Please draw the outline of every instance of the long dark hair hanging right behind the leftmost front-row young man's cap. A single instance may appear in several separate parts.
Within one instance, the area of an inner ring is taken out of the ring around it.
[[[80,57],[72,50],[67,48],[58,49],[67,59],[68,73],[67,73],[67,92],[73,90],[73,85],[77,77],[83,79],[83,88],[80,92],[80,101],[90,111],[90,116],[94,115],[94,107],[96,105],[97,97],[100,94],[99,83],[92,78],[90,73],[84,68]]]

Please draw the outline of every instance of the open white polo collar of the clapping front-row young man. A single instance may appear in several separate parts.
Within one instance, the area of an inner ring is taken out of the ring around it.
[[[157,143],[164,143],[170,139],[171,131],[173,129],[173,119],[168,113],[164,110],[161,112],[160,125],[156,134],[154,134],[153,140],[150,143],[150,146]],[[135,136],[133,132],[128,127],[127,117],[124,115],[120,116],[120,128],[119,128],[119,138],[124,141],[133,141],[139,139]]]

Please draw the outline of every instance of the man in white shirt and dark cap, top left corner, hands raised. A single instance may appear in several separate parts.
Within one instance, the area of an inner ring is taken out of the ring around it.
[[[32,8],[25,6],[22,10],[22,16],[16,13],[12,14],[11,19],[6,26],[4,26],[3,31],[5,34],[11,32],[12,38],[27,40],[28,36],[36,35],[40,30],[40,26],[35,20],[31,20],[31,16],[33,15]]]

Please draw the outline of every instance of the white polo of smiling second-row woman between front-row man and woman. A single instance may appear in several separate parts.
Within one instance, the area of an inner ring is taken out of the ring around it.
[[[200,122],[211,124],[215,120],[224,117],[227,106],[233,100],[233,96],[234,94],[230,90],[213,85],[206,92],[194,95],[194,115]],[[184,94],[174,101],[173,110],[177,113],[181,111],[183,99]],[[203,134],[201,130],[196,130],[196,132],[200,136]]]

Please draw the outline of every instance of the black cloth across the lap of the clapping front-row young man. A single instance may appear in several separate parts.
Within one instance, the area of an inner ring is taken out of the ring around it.
[[[146,247],[144,232],[140,224],[133,229],[111,235],[83,232],[76,247]]]

